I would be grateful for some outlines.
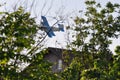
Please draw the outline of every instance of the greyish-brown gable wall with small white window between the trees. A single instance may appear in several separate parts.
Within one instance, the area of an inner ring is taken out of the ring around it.
[[[48,48],[48,53],[44,56],[45,60],[48,60],[50,63],[53,64],[53,72],[63,71],[68,66],[68,64],[66,64],[63,60],[63,51],[63,49],[59,48]]]

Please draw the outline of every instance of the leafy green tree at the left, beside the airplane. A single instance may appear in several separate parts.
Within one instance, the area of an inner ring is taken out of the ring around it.
[[[29,62],[28,53],[35,44],[34,37],[38,26],[30,13],[20,7],[17,11],[3,12],[0,18],[0,77],[12,79],[17,77],[21,63]]]

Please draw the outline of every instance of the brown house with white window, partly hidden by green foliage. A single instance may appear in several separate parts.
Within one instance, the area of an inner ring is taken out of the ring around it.
[[[53,64],[52,71],[63,71],[72,61],[74,55],[71,50],[48,47],[48,53],[44,59]]]

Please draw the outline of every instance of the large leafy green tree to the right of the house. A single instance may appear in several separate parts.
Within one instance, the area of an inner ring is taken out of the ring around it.
[[[65,80],[117,80],[120,79],[119,55],[109,49],[111,38],[120,34],[119,4],[86,1],[84,17],[76,17],[76,40],[73,42],[73,62],[63,73]],[[119,47],[116,50],[119,53]]]

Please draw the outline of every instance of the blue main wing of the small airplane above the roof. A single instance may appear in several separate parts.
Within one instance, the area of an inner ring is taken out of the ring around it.
[[[50,25],[49,25],[46,17],[45,17],[45,16],[41,16],[41,18],[42,18],[42,20],[43,20],[43,22],[41,22],[41,24],[42,24],[43,27],[46,28],[45,31],[46,31],[47,35],[48,35],[49,37],[55,36],[55,34],[54,34],[52,28],[50,27]]]

